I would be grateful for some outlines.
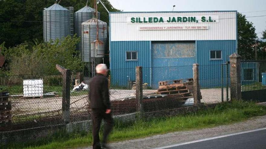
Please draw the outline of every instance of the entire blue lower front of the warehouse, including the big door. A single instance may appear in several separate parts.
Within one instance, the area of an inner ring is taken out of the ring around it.
[[[229,55],[236,52],[236,40],[196,41],[194,47],[193,44],[191,46],[191,43],[195,43],[195,41],[110,42],[112,85],[126,86],[129,79],[135,80],[136,66],[143,67],[144,83],[147,82],[149,84],[152,83],[157,85],[158,81],[162,81],[162,79],[172,80],[190,78],[192,77],[192,64],[198,63],[200,64],[200,85],[209,88],[220,86],[220,64],[229,61]],[[185,44],[190,46],[186,46]],[[191,50],[193,48],[196,49],[196,51]],[[175,49],[181,50],[175,51]],[[187,50],[180,52],[182,49]],[[222,50],[222,60],[210,60],[210,50]],[[126,51],[138,51],[138,61],[126,61]],[[184,57],[184,55],[187,56]],[[152,68],[153,70],[151,70],[151,67],[156,68]],[[162,70],[164,69],[163,67],[168,67],[168,69]],[[163,74],[163,72],[166,73]],[[226,76],[225,71],[224,76]]]

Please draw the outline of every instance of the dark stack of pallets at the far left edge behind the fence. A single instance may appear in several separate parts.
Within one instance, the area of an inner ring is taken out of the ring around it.
[[[8,92],[0,92],[0,125],[11,123],[11,101]]]

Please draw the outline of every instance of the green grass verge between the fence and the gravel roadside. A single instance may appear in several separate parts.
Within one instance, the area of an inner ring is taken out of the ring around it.
[[[232,103],[218,104],[213,109],[200,110],[187,115],[139,120],[128,123],[116,120],[109,139],[110,141],[122,141],[167,132],[214,127],[265,114],[266,107],[264,106],[259,106],[252,102],[234,101]],[[9,148],[63,149],[85,147],[91,144],[91,132],[79,134],[59,133],[34,142],[11,144]]]

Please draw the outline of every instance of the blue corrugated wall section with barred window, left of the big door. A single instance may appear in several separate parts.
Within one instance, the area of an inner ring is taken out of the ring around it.
[[[138,51],[138,61],[126,61],[126,51]],[[110,69],[112,85],[126,86],[135,81],[135,67],[143,67],[143,82],[150,84],[151,42],[110,42]]]

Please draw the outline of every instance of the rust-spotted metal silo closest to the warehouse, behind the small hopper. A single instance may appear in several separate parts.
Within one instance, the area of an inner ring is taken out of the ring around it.
[[[98,20],[98,39],[107,42],[107,23]],[[97,19],[92,18],[82,23],[82,59],[83,62],[90,61],[91,43],[97,38]],[[105,47],[106,49],[106,44]]]

